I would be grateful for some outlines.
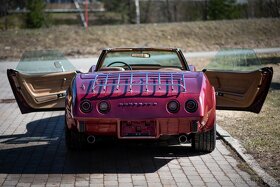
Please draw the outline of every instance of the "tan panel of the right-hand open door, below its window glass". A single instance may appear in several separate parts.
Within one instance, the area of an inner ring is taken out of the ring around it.
[[[273,70],[252,72],[205,71],[215,87],[217,109],[260,112],[266,98]]]

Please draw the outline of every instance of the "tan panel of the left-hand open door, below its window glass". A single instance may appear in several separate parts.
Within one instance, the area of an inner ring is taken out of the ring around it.
[[[76,72],[22,74],[8,70],[8,78],[22,113],[65,108],[66,89]]]

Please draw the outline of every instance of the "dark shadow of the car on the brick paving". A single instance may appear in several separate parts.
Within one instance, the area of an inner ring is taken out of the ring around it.
[[[192,157],[189,146],[109,141],[68,151],[64,116],[29,122],[25,134],[0,136],[0,173],[150,173],[178,157]]]

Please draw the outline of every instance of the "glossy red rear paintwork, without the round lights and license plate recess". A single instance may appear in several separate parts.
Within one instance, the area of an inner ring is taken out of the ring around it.
[[[149,72],[147,73],[149,76]],[[106,73],[102,73],[102,75],[104,74]],[[113,77],[118,77],[121,73],[108,74],[106,76],[113,74]],[[152,74],[154,75],[155,72]],[[94,74],[78,74],[74,82],[77,88],[75,107],[70,106],[69,108],[73,110],[73,119],[83,121],[86,125],[86,133],[92,135],[150,139],[159,138],[161,135],[189,134],[193,121],[199,122],[198,131],[211,129],[215,123],[214,89],[201,72],[186,71],[180,72],[178,75],[184,77],[180,85],[185,84],[186,90],[181,89],[179,84],[171,89],[170,75],[165,75],[166,82],[161,82],[160,85],[157,84],[158,82],[149,85],[151,80],[146,82],[141,76],[133,76],[132,84],[118,85],[111,84],[111,82],[117,82],[115,80],[107,80],[107,84],[105,84],[105,81],[99,80],[98,76]],[[141,79],[143,79],[143,84],[137,85]],[[128,81],[126,77],[120,80],[120,82],[126,81]],[[85,85],[86,89],[79,89],[81,84]],[[95,86],[94,92],[92,91],[93,86]],[[132,89],[131,92],[128,92],[130,86]],[[146,86],[147,91],[144,89]],[[119,87],[118,90],[117,87]],[[80,102],[85,99],[90,100],[93,106],[90,113],[83,113],[78,107]],[[185,102],[189,99],[198,102],[198,110],[194,113],[187,112],[184,107]],[[110,112],[106,114],[98,111],[98,103],[102,100],[110,103]],[[167,103],[171,100],[177,100],[180,103],[177,113],[170,113],[166,108]],[[119,132],[121,120],[155,120],[158,128],[157,135],[155,137],[121,137]]]

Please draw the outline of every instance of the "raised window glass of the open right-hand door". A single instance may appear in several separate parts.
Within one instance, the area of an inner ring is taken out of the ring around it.
[[[253,49],[222,49],[206,69],[251,71],[260,69],[261,62]]]

